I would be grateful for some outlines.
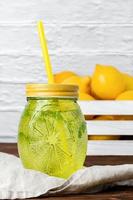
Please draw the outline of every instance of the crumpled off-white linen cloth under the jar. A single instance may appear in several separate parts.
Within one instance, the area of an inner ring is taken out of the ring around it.
[[[65,180],[24,169],[18,157],[0,153],[0,199],[92,193],[115,185],[133,186],[133,164],[84,167]]]

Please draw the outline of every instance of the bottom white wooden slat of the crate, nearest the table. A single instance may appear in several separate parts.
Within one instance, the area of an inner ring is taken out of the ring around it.
[[[132,155],[133,141],[88,141],[87,155]]]

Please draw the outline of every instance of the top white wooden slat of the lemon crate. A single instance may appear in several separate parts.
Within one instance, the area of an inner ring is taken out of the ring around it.
[[[133,101],[79,101],[84,115],[133,115]]]

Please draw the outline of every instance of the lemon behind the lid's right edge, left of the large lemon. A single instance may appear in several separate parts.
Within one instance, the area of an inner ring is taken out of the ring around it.
[[[79,92],[82,93],[89,93],[90,92],[90,82],[91,79],[89,76],[71,76],[65,79],[62,83],[63,84],[70,84],[70,85],[78,85]]]

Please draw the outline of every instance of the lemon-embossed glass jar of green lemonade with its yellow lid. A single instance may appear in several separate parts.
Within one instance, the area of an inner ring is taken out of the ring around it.
[[[83,167],[87,149],[78,87],[27,84],[27,105],[18,132],[18,151],[25,168],[68,178]]]

